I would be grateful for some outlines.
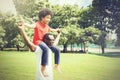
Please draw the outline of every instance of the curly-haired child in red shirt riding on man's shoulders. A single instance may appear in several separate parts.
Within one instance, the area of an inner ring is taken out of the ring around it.
[[[27,23],[24,23],[21,21],[19,25],[24,25],[27,28],[34,29],[34,37],[33,37],[33,43],[34,45],[39,46],[42,51],[42,62],[41,62],[41,72],[42,74],[47,77],[46,73],[46,65],[48,64],[48,51],[49,48],[55,53],[55,68],[59,71],[59,63],[60,63],[60,50],[52,45],[50,47],[47,46],[46,43],[43,42],[43,37],[46,33],[49,33],[50,31],[56,31],[59,32],[60,29],[52,29],[49,27],[49,22],[51,20],[51,17],[53,16],[52,12],[49,9],[43,9],[39,12],[39,21],[37,21],[33,25],[29,25]]]

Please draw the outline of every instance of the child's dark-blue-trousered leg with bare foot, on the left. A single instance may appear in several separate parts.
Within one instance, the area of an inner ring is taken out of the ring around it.
[[[40,43],[40,48],[43,50],[43,53],[42,53],[42,60],[41,60],[41,72],[42,74],[47,77],[47,73],[46,73],[46,65],[48,65],[48,51],[49,51],[49,47],[44,43],[44,42],[41,42]]]

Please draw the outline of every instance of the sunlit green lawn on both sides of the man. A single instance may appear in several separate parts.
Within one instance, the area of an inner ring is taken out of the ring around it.
[[[120,80],[120,53],[61,54],[62,74],[54,80]],[[36,56],[31,52],[0,52],[0,80],[35,80]]]

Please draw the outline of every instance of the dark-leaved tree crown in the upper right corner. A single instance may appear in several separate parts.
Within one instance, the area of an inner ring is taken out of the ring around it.
[[[99,12],[99,16],[101,17],[101,22],[99,24],[102,24],[104,31],[106,30],[107,32],[110,32],[111,30],[116,30],[117,41],[120,39],[120,31],[118,31],[120,27],[119,4],[119,0],[93,0],[92,4],[96,11]]]

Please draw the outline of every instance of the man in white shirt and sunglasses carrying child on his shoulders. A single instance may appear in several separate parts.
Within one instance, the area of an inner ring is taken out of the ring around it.
[[[41,49],[39,48],[39,46],[34,45],[34,44],[29,40],[28,36],[27,36],[26,33],[25,33],[24,26],[18,26],[18,28],[19,28],[19,31],[20,31],[23,39],[25,40],[26,44],[27,44],[28,47],[30,48],[30,50],[33,51],[33,52],[40,51]],[[58,35],[57,35],[57,37],[56,37],[55,40],[54,40],[54,36],[53,36],[53,35],[51,35],[51,34],[46,34],[46,35],[44,36],[44,42],[45,42],[48,46],[57,45],[58,42],[59,42],[59,39],[60,39],[60,34],[61,34],[61,33],[58,33]],[[54,40],[54,41],[53,41],[53,40]],[[38,59],[38,60],[37,60],[37,76],[36,76],[36,79],[37,79],[37,80],[44,80],[44,78],[45,78],[45,76],[42,76],[43,74],[40,74],[41,71],[39,70],[39,69],[41,68],[41,67],[40,67],[40,64],[39,64],[39,63],[41,63],[41,57],[40,57],[41,54],[42,54],[42,53],[39,53],[39,56],[37,57],[37,59]],[[49,57],[50,57],[50,56],[49,56]],[[50,59],[51,59],[51,58],[50,58]],[[53,74],[53,72],[52,72],[52,59],[51,59],[51,60],[50,60],[50,59],[49,59],[48,67],[47,67],[47,68],[49,68],[49,70],[47,70],[47,72],[49,73],[49,75],[48,75],[47,79],[45,79],[45,80],[53,80],[53,76],[52,76],[52,74]],[[50,61],[51,61],[51,63],[50,63]],[[58,72],[61,72],[60,69],[58,68],[58,66],[57,66],[57,67],[55,66],[54,68],[55,68],[56,70],[58,70]]]

